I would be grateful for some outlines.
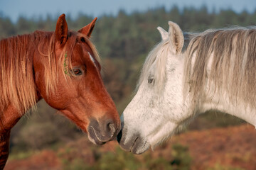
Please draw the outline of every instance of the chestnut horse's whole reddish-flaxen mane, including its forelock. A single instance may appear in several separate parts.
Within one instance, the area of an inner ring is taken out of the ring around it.
[[[67,52],[68,67],[72,67],[71,55],[75,43],[78,42],[75,38],[85,38],[96,60],[100,61],[95,46],[85,35],[73,31],[69,33],[68,38],[71,40],[68,40],[63,50],[63,57],[58,61],[55,57],[55,33],[53,32],[36,31],[28,35],[17,35],[0,40],[0,113],[10,103],[21,114],[36,105],[37,90],[33,70],[33,55],[36,52],[41,55],[39,57],[46,60],[43,62],[43,67],[47,95],[55,91],[58,69],[62,69],[65,74],[63,66],[65,52]],[[67,80],[70,79],[67,75],[65,77]]]

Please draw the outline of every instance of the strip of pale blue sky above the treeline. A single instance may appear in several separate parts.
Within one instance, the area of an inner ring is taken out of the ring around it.
[[[47,15],[57,17],[61,13],[71,18],[77,17],[79,13],[100,17],[104,14],[117,15],[120,9],[132,13],[161,6],[169,10],[174,5],[181,9],[185,6],[200,8],[204,5],[209,11],[215,8],[217,12],[227,8],[237,13],[243,10],[252,13],[256,10],[256,0],[0,0],[0,16],[9,17],[13,22],[19,16],[45,18]]]

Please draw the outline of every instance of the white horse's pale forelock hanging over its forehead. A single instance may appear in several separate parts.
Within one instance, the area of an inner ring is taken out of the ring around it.
[[[166,77],[164,66],[166,66],[167,54],[170,47],[169,40],[162,40],[149,52],[143,64],[142,74],[139,77],[137,88],[143,81],[148,81],[149,78],[154,79],[153,83],[156,91],[161,91],[164,88],[164,80]]]

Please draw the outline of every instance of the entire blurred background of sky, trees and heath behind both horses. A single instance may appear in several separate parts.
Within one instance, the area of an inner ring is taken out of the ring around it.
[[[119,114],[134,95],[140,69],[161,40],[168,21],[183,31],[255,26],[255,0],[0,0],[0,38],[55,30],[61,13],[79,30],[98,17],[92,42],[102,58],[102,77]],[[117,142],[96,146],[44,101],[11,132],[6,169],[256,169],[256,131],[225,113],[198,116],[181,134],[153,151],[133,155]]]

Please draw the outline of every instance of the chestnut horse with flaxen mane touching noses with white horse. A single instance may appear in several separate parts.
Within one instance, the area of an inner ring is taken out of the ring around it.
[[[0,169],[9,155],[11,128],[42,98],[87,132],[91,142],[115,139],[119,115],[89,40],[96,19],[75,32],[62,14],[54,32],[0,41]]]

